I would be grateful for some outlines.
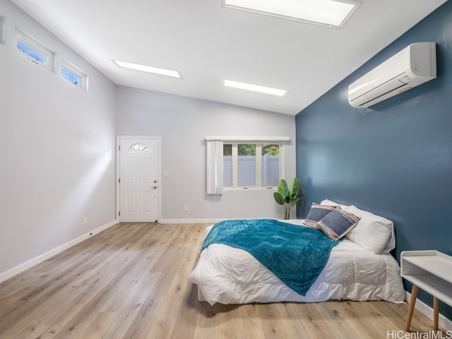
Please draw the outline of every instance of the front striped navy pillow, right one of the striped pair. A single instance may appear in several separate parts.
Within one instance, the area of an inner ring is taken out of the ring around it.
[[[331,240],[338,241],[348,231],[352,230],[360,219],[352,213],[335,208],[317,222],[317,227]]]

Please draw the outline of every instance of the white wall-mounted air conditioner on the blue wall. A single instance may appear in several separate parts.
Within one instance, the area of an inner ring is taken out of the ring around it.
[[[369,107],[436,78],[436,44],[415,42],[348,86],[353,107]]]

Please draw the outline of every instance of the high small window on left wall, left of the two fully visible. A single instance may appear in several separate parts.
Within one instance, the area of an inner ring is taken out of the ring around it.
[[[16,30],[16,49],[25,54],[28,59],[52,71],[53,53],[29,35]]]

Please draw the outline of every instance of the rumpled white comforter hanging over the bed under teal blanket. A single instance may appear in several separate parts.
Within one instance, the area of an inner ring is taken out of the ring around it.
[[[287,287],[248,252],[223,244],[210,244],[201,252],[189,280],[198,285],[198,299],[209,304],[328,299],[403,303],[405,297],[396,259],[391,254],[374,254],[348,239],[333,248],[305,296]]]

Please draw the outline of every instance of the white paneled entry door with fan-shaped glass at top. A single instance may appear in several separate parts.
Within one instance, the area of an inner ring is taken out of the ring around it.
[[[157,137],[118,137],[119,221],[158,222]]]

